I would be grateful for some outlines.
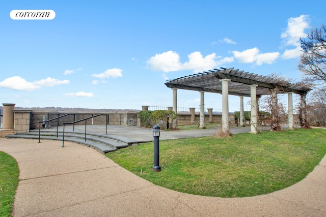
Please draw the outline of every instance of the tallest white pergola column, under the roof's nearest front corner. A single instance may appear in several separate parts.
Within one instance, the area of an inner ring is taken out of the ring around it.
[[[230,79],[222,79],[222,132],[230,133],[229,127],[229,81]]]

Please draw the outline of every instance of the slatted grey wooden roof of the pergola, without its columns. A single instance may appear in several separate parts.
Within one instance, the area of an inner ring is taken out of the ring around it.
[[[249,85],[256,84],[257,97],[269,95],[269,89],[278,88],[277,94],[294,92],[299,95],[306,95],[310,88],[298,86],[268,76],[261,76],[249,72],[239,71],[234,68],[214,69],[208,72],[196,73],[183,76],[177,79],[168,80],[166,85],[170,88],[197,90],[205,92],[222,93],[222,79],[230,79],[229,95],[250,97]]]

